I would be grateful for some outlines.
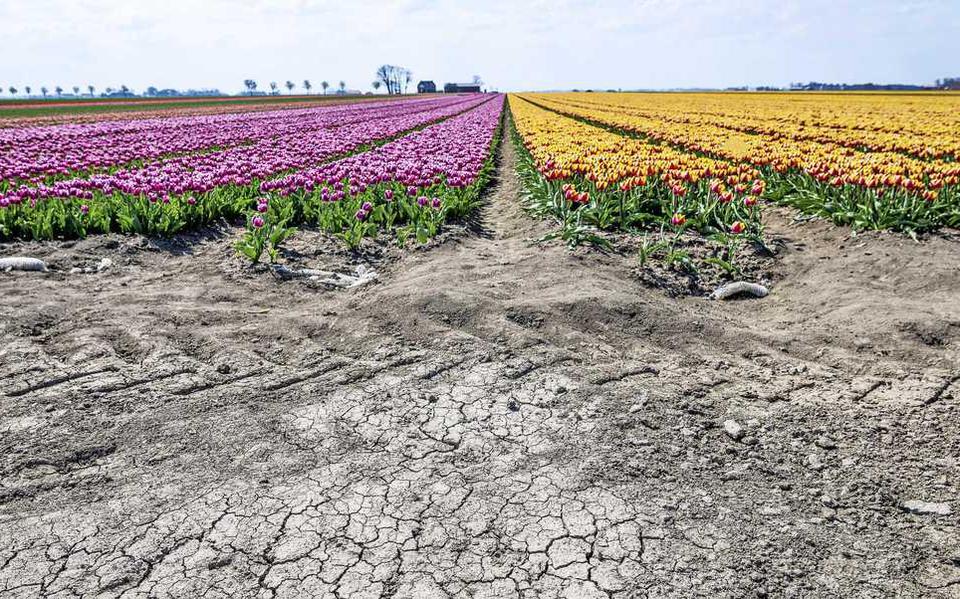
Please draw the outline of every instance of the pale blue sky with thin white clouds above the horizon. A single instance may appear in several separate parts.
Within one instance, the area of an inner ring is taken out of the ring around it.
[[[4,90],[367,90],[385,62],[501,90],[960,76],[960,0],[0,0],[0,24]]]

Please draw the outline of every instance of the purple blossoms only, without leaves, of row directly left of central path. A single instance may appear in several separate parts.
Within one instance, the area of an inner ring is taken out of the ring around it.
[[[406,186],[411,194],[440,182],[449,187],[467,187],[489,156],[503,101],[504,97],[498,95],[469,112],[375,150],[264,181],[260,190],[289,195],[301,189],[339,186],[344,180],[349,181],[351,191],[358,192],[389,182]]]

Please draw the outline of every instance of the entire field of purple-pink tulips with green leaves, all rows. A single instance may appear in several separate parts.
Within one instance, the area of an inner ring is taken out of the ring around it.
[[[0,130],[0,239],[169,235],[243,218],[350,246],[435,235],[488,179],[503,96]],[[259,253],[257,254],[259,258]]]

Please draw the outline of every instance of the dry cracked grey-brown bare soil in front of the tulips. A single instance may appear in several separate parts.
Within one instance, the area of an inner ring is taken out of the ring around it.
[[[0,596],[960,596],[956,234],[772,210],[770,296],[670,298],[513,161],[353,290],[0,248],[54,267],[0,273]]]

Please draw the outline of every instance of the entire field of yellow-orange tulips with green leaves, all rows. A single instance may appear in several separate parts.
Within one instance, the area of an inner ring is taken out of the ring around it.
[[[956,95],[525,93],[510,109],[528,207],[571,243],[595,229],[762,243],[771,204],[854,229],[960,224]]]

